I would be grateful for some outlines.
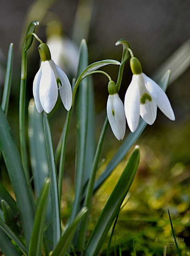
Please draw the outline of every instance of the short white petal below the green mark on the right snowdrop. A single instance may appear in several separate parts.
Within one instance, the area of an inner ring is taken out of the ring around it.
[[[156,119],[157,105],[154,99],[146,100],[145,104],[140,104],[140,115],[147,124],[153,124]]]

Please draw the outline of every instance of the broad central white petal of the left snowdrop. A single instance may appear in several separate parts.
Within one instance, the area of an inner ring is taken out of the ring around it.
[[[48,114],[57,101],[58,89],[55,74],[49,61],[41,63],[42,76],[39,87],[39,96],[43,109]]]

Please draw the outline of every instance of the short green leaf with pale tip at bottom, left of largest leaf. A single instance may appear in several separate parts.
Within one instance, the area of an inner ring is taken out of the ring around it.
[[[51,256],[64,256],[65,255],[65,253],[72,241],[74,233],[75,233],[82,217],[86,214],[87,211],[88,210],[86,207],[83,207],[81,209],[80,213],[78,213],[78,215],[76,216],[74,221],[71,223],[71,225],[69,225],[65,229],[59,243],[57,244],[56,248],[53,250],[53,253],[51,254]]]

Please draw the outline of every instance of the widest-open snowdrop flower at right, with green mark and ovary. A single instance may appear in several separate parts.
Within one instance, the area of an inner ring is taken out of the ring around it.
[[[157,106],[170,120],[174,111],[165,92],[142,72],[141,63],[135,57],[130,60],[133,78],[125,94],[125,115],[131,132],[135,132],[140,116],[147,124],[156,119]]]

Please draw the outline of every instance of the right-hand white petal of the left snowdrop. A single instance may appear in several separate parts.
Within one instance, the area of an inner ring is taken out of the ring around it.
[[[52,66],[53,60],[51,60],[51,66]],[[69,82],[69,79],[65,72],[59,66],[57,66],[54,62],[53,64],[55,65],[55,68],[57,70],[57,76],[61,80],[62,87],[59,88],[59,93],[61,96],[61,100],[63,102],[63,105],[67,111],[71,108],[72,105],[72,89],[71,89],[71,84]],[[56,78],[57,78],[56,77]]]

